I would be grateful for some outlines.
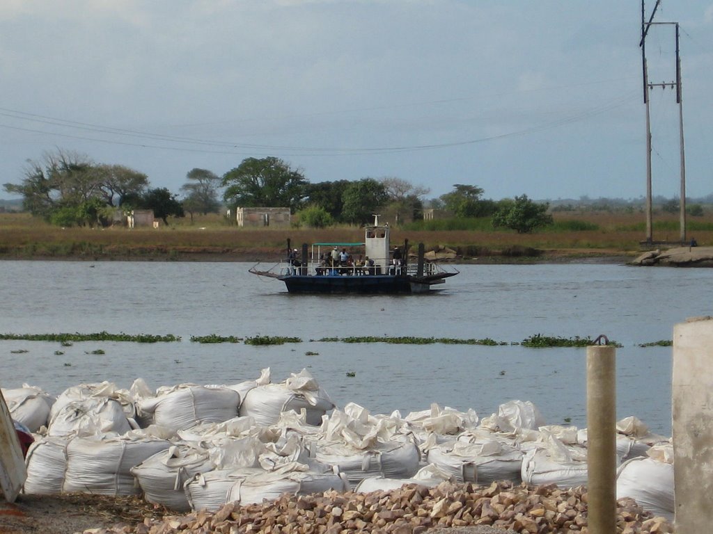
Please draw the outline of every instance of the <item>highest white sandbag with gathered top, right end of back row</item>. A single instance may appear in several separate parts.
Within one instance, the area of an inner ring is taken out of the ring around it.
[[[281,412],[307,412],[307,424],[318,425],[322,416],[334,408],[332,399],[317,380],[302,370],[280,384],[265,384],[250,389],[240,404],[240,415],[250,416],[260,425],[279,420]]]

